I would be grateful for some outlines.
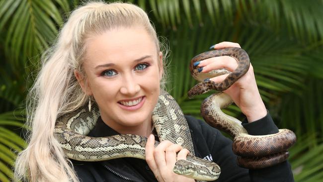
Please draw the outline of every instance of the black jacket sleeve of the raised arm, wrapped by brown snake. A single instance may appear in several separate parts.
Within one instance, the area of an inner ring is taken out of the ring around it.
[[[221,168],[220,178],[216,182],[293,182],[293,174],[289,163],[258,170],[248,170],[237,165],[237,156],[232,151],[232,140],[225,137],[219,130],[199,120],[201,133],[210,150],[213,161]],[[242,126],[251,135],[266,135],[278,132],[277,126],[267,115],[252,123],[243,121]],[[259,133],[260,132],[260,133]],[[196,134],[194,134],[196,135]],[[201,143],[201,142],[200,142]],[[199,144],[197,144],[198,146]],[[199,150],[199,149],[197,149]]]

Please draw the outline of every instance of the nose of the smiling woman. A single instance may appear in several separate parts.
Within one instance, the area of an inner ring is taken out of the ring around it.
[[[140,86],[132,75],[128,75],[123,79],[120,92],[125,95],[136,95],[140,91]]]

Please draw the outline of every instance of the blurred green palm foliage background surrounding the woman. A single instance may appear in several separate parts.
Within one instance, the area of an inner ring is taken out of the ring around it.
[[[25,98],[41,54],[83,1],[0,0],[1,182],[11,181],[16,154],[26,146]],[[298,137],[289,158],[295,181],[323,179],[323,0],[128,1],[146,10],[168,45],[167,90],[185,114],[201,118],[200,104],[210,95],[187,98],[196,84],[191,58],[216,43],[237,42],[276,125]],[[235,105],[225,112],[244,117]]]

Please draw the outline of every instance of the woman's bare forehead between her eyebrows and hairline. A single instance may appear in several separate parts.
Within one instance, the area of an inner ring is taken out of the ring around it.
[[[144,28],[120,28],[89,38],[85,45],[85,62],[94,67],[143,57],[157,58],[156,43]]]

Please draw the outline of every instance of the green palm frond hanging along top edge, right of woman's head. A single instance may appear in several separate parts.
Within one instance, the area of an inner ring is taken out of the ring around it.
[[[200,25],[218,25],[242,21],[248,24],[266,24],[276,31],[287,25],[290,37],[312,42],[323,35],[323,2],[310,0],[149,0],[157,20],[167,27],[176,27],[181,20]],[[185,16],[180,16],[184,12]],[[207,17],[211,17],[208,19]],[[175,21],[177,19],[177,21]]]

